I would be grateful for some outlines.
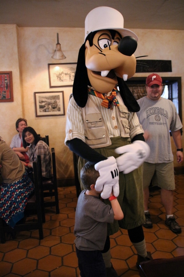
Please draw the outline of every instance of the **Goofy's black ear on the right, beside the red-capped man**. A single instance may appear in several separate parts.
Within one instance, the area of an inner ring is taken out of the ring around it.
[[[140,110],[140,106],[137,103],[132,92],[129,90],[126,82],[119,77],[117,77],[117,82],[120,89],[121,98],[123,99],[123,102],[127,109],[134,113],[138,112]]]

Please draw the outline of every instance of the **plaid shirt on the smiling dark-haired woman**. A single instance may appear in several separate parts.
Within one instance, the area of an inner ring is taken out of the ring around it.
[[[28,150],[29,160],[33,167],[33,161],[36,161],[37,155],[41,156],[42,176],[51,177],[51,153],[49,147],[44,141],[40,140],[36,145],[31,145]]]

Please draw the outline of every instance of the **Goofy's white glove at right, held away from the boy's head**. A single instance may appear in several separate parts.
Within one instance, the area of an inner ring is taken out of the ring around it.
[[[127,174],[138,168],[150,155],[150,148],[142,140],[135,140],[132,144],[121,146],[115,149],[117,154],[123,154],[116,158],[119,171]]]

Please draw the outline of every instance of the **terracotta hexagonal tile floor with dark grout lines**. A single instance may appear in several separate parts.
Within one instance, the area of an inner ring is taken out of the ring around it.
[[[150,195],[152,229],[144,228],[147,250],[153,258],[172,258],[184,255],[184,175],[175,176],[174,214],[182,226],[182,233],[175,235],[164,224],[165,211],[160,192]],[[44,239],[38,239],[38,231],[17,233],[16,239],[8,236],[0,243],[0,276],[77,277],[79,269],[74,245],[75,187],[58,188],[60,214],[55,208],[46,211],[43,224]],[[127,231],[119,230],[111,236],[112,263],[118,276],[139,276],[136,270],[136,251]]]

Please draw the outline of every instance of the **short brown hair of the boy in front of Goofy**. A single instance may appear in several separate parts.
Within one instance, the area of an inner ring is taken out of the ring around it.
[[[94,163],[87,162],[81,169],[80,178],[86,190],[91,190],[90,186],[96,184],[99,176],[99,172],[94,168]]]

